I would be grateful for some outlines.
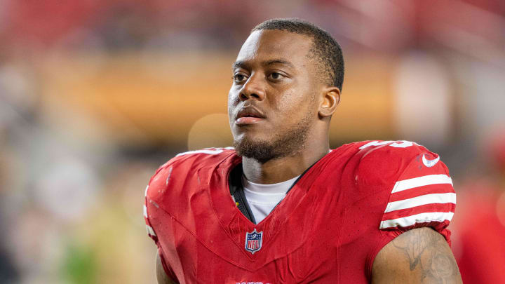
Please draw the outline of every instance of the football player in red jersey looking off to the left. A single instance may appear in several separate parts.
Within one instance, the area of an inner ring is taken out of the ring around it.
[[[146,189],[159,283],[461,283],[440,157],[408,141],[330,150],[343,78],[315,25],[253,29],[233,64],[234,148],[178,154]]]

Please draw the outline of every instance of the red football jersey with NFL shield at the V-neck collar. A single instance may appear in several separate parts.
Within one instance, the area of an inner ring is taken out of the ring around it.
[[[440,157],[407,141],[330,151],[259,224],[230,195],[233,149],[177,155],[146,189],[147,231],[179,283],[369,283],[381,248],[408,229],[446,229],[456,196]]]

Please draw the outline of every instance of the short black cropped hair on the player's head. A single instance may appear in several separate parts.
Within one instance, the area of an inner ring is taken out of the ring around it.
[[[339,43],[321,27],[297,18],[272,19],[257,25],[251,32],[262,29],[280,29],[312,38],[311,53],[318,58],[318,65],[323,74],[328,76],[328,83],[342,90],[344,83],[344,56]]]

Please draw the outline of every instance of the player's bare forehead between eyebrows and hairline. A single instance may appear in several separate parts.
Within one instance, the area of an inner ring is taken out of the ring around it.
[[[263,29],[251,33],[238,52],[237,62],[267,62],[283,60],[295,67],[304,67],[312,47],[309,36],[278,29]]]

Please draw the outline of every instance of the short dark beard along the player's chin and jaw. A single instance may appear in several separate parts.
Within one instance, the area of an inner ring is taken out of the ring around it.
[[[235,150],[239,156],[253,158],[260,163],[296,154],[306,146],[309,121],[307,116],[283,133],[273,133],[270,140],[253,140],[247,136],[234,140]]]

